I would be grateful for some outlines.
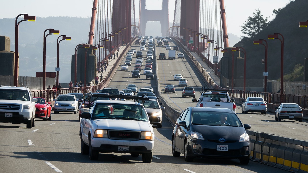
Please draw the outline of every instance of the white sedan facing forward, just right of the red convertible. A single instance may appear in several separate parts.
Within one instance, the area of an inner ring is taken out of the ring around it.
[[[53,101],[55,101],[54,114],[58,114],[59,112],[78,113],[78,101],[75,95],[61,94],[57,99],[53,99]]]

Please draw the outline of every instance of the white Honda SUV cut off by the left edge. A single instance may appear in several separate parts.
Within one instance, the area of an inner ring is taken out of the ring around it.
[[[0,123],[34,127],[35,102],[28,87],[0,86]]]

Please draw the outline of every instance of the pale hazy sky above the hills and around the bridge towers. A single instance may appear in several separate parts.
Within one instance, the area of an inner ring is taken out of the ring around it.
[[[146,6],[153,8],[161,6],[158,5],[161,4],[161,1],[146,0]],[[274,18],[272,11],[285,7],[290,1],[225,0],[228,32],[240,36],[242,35],[241,25],[249,16],[252,16],[257,8],[260,9],[264,17],[270,17],[269,19],[272,20]],[[139,3],[139,0],[135,0],[135,3]],[[0,4],[0,18],[16,18],[18,14],[22,13],[37,17],[71,16],[86,18],[91,16],[93,0],[1,0]],[[175,0],[169,0],[170,21],[173,21],[174,4]]]

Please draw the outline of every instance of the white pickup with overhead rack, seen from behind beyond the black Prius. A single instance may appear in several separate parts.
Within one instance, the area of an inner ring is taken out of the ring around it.
[[[196,107],[216,107],[216,108],[229,108],[235,112],[234,100],[230,98],[228,92],[231,90],[209,90],[205,89],[199,98],[193,99],[197,102]]]

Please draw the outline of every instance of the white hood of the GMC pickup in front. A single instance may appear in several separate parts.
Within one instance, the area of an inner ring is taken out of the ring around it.
[[[149,122],[126,119],[96,119],[98,129],[127,130],[127,131],[153,131]]]

